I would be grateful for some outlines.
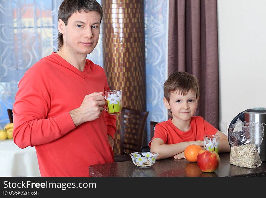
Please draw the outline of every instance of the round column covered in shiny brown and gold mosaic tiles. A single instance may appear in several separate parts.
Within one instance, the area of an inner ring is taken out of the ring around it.
[[[146,111],[143,0],[104,0],[103,64],[110,89],[122,90],[122,106]],[[120,153],[117,115],[114,153]],[[144,137],[145,138],[145,137]]]

